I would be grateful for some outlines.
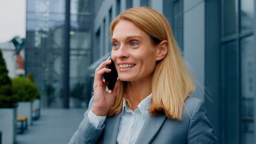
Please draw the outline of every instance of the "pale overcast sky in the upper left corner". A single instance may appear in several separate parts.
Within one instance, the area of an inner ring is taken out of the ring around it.
[[[0,43],[26,35],[26,0],[0,0]]]

